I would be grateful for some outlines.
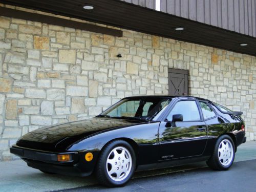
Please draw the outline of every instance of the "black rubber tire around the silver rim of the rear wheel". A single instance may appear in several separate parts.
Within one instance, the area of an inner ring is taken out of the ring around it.
[[[218,154],[218,150],[219,150],[219,145],[220,143],[224,140],[224,139],[227,139],[230,141],[230,143],[232,144],[232,149],[233,149],[233,157],[232,157],[232,160],[231,162],[228,164],[228,165],[223,165],[221,164],[220,162],[220,159],[219,159],[219,154]],[[217,164],[218,166],[221,168],[221,169],[228,169],[231,167],[231,165],[233,164],[233,161],[234,161],[234,156],[235,156],[235,152],[234,152],[234,142],[232,140],[232,138],[228,135],[222,135],[218,140],[217,140],[217,143],[216,143],[216,147],[215,147],[215,155],[216,155],[216,159],[217,159]]]

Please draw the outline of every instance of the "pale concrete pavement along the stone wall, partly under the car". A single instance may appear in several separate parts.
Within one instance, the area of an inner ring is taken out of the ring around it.
[[[238,147],[235,162],[256,159],[256,141],[248,141]],[[136,173],[134,178],[182,172],[205,167],[205,162]],[[28,167],[22,160],[0,162],[0,191],[53,191],[97,183],[94,177],[68,177],[43,174],[37,169]]]

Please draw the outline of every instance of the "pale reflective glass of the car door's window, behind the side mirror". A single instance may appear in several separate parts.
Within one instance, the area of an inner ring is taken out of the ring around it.
[[[173,115],[183,115],[183,121],[200,120],[200,114],[196,101],[179,101],[169,113],[167,120],[172,121]]]

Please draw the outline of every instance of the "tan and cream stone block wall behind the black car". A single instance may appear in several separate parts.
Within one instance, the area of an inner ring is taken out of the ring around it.
[[[243,111],[256,139],[255,57],[122,31],[0,17],[0,160],[14,159],[9,147],[38,127],[95,116],[126,96],[167,95],[168,68],[189,70],[189,95]]]

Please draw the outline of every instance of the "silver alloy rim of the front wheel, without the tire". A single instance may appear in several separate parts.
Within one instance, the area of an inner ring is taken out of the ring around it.
[[[106,159],[106,172],[114,181],[123,181],[132,169],[132,156],[123,146],[115,147]]]

